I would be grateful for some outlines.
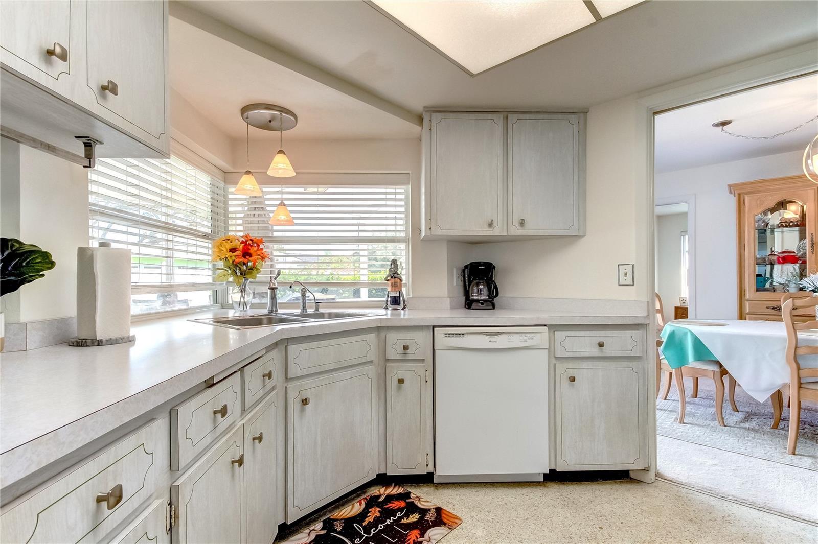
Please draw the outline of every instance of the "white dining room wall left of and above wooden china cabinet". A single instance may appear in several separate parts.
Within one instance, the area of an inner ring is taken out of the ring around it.
[[[690,252],[696,256],[695,270],[691,271],[696,299],[690,304],[694,305],[697,318],[738,317],[735,197],[728,192],[727,185],[794,176],[800,172],[802,154],[800,150],[791,151],[656,175],[654,195],[663,203],[668,198],[695,196],[696,239]]]

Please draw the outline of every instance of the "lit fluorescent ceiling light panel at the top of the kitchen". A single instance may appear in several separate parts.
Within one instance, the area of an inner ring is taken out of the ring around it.
[[[470,75],[592,25],[602,12],[610,15],[640,1],[371,0]]]

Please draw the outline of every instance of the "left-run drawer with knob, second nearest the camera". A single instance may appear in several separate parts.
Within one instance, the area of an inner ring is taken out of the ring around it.
[[[170,470],[181,470],[204,452],[241,413],[239,372],[170,410]]]

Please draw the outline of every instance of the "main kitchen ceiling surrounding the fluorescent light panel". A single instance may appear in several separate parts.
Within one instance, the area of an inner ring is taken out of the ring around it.
[[[588,107],[818,39],[818,2],[651,1],[470,77],[366,2],[182,5],[418,114],[445,105]],[[200,81],[222,77],[205,72]]]

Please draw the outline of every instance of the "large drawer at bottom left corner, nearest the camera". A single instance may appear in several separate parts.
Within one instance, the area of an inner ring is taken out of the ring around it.
[[[167,419],[153,421],[20,502],[2,515],[0,541],[100,542],[155,492],[167,433]]]

